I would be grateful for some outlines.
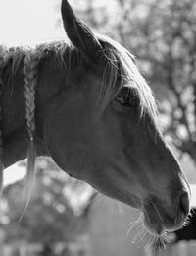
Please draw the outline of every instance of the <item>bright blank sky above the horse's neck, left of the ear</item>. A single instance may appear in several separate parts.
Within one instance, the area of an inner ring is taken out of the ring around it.
[[[58,0],[0,0],[0,43],[32,45],[65,36],[57,29]]]

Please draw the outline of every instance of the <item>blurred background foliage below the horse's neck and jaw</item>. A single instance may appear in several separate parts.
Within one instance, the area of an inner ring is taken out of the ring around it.
[[[16,237],[40,243],[69,241],[85,231],[93,189],[58,171],[51,160],[39,160],[31,200],[19,221],[25,207],[22,192],[22,181],[5,189],[1,225],[9,242]]]

